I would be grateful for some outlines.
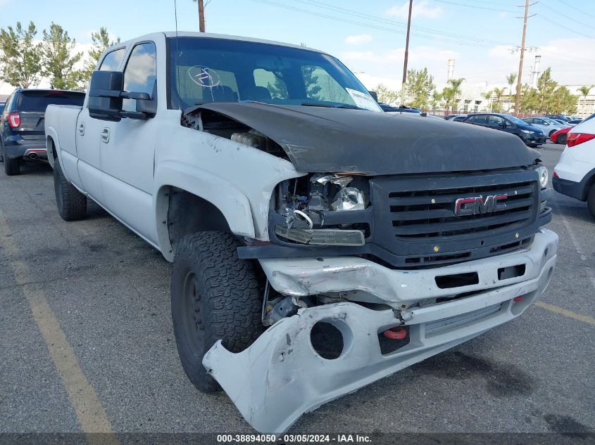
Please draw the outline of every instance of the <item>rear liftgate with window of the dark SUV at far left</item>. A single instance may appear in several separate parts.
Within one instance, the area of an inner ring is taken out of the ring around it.
[[[23,139],[44,139],[44,115],[49,104],[82,105],[84,93],[60,90],[23,90],[15,111],[20,116],[19,134]]]

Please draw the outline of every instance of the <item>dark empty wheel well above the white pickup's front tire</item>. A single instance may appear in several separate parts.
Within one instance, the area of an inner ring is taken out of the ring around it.
[[[181,188],[171,187],[168,203],[168,234],[173,251],[177,242],[190,233],[218,231],[231,233],[227,220],[213,203]]]

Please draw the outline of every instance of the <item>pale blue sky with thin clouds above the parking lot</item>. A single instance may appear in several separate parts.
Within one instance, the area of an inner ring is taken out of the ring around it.
[[[392,0],[206,0],[206,30],[287,41],[339,57],[368,88],[401,79],[407,1]],[[80,44],[101,26],[121,39],[173,30],[173,0],[0,0],[0,26],[33,20],[39,30],[62,25]],[[469,85],[506,84],[518,69],[522,0],[414,0],[411,68],[428,67],[437,84],[446,81],[447,60]],[[303,12],[307,11],[307,12]],[[354,11],[356,14],[354,14]],[[552,67],[563,84],[595,83],[595,1],[539,0],[530,8],[526,54],[529,81],[534,56]],[[177,0],[179,30],[198,30],[197,4]],[[41,34],[41,32],[40,32]]]

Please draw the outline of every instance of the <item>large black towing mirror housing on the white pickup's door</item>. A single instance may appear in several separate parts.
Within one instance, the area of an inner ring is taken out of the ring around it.
[[[94,71],[89,86],[89,116],[99,120],[118,122],[122,110],[120,93],[124,88],[124,73],[120,71]]]

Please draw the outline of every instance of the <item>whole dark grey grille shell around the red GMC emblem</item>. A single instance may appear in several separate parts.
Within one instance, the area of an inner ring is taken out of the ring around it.
[[[539,182],[530,171],[370,180],[372,243],[411,266],[465,261],[527,245],[536,227]],[[506,209],[457,216],[458,198],[506,193]],[[474,250],[480,249],[482,254]],[[475,254],[474,254],[475,253]]]

